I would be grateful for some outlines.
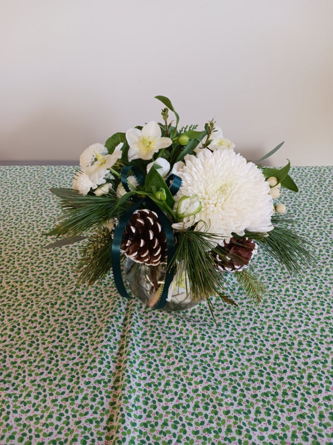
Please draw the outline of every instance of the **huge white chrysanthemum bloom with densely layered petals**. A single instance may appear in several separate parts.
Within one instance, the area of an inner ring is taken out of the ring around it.
[[[232,234],[242,236],[245,229],[273,229],[269,185],[260,169],[239,153],[202,149],[197,156],[185,157],[185,165],[177,175],[182,184],[175,199],[196,195],[202,208],[194,215],[194,222],[203,221],[210,233],[219,235],[221,240],[229,240]],[[196,229],[206,227],[200,222]]]

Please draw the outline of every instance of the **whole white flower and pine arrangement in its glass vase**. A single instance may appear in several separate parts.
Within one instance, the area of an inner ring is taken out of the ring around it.
[[[181,293],[196,303],[205,299],[211,309],[214,296],[237,305],[226,295],[230,274],[259,302],[264,286],[251,265],[257,251],[290,273],[312,259],[307,240],[290,228],[285,206],[276,201],[282,188],[298,191],[289,161],[280,169],[248,162],[214,121],[200,131],[179,128],[170,100],[156,99],[164,105],[162,123],[91,145],[80,156],[73,188],[51,189],[63,215],[48,235],[62,239],[48,247],[84,241],[79,284],[112,270],[120,295],[146,292],[153,308],[172,307]],[[149,270],[149,284],[137,291],[131,283],[142,284],[142,270],[146,278]]]

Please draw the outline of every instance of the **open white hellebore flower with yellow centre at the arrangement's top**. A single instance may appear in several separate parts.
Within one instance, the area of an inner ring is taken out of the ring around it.
[[[154,121],[146,124],[142,130],[130,128],[126,132],[126,139],[130,146],[128,157],[133,159],[148,160],[161,148],[169,147],[172,144],[170,138],[161,138],[161,129]]]

